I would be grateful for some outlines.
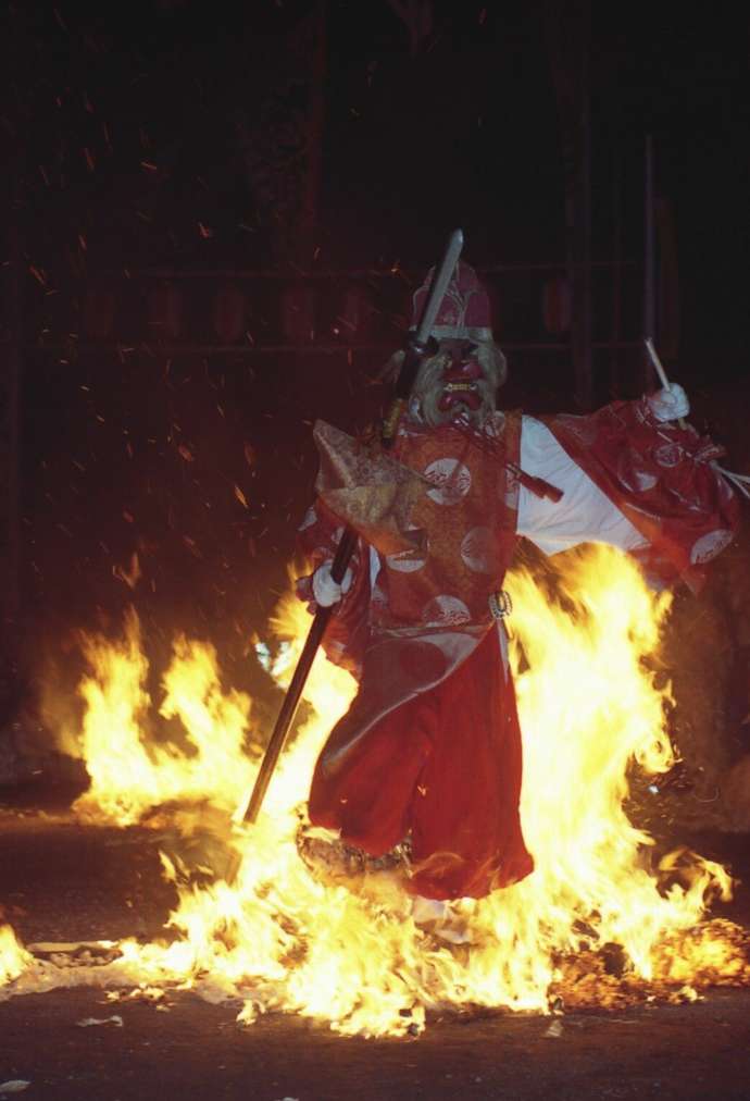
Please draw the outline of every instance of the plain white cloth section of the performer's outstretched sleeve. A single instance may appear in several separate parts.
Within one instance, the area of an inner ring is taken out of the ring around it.
[[[537,497],[520,487],[518,534],[531,539],[547,555],[580,543],[609,543],[621,550],[648,545],[587,473],[573,461],[547,425],[534,417],[521,421],[521,470],[556,486],[560,501]]]

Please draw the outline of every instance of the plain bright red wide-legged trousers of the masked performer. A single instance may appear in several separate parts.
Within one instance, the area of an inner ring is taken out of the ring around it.
[[[478,898],[532,871],[518,814],[516,697],[494,629],[445,680],[372,727],[330,775],[321,762],[310,821],[374,857],[410,835],[415,893]]]

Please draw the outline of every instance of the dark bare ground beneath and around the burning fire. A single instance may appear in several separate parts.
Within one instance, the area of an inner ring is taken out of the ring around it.
[[[750,884],[745,835],[687,838]],[[0,902],[24,944],[151,938],[174,902],[145,830],[82,828],[60,793],[0,791]],[[750,887],[717,906],[750,926]],[[750,1098],[750,990],[694,1004],[560,1016],[500,1012],[428,1018],[413,1039],[342,1038],[268,1015],[238,1027],[236,1006],[195,995],[108,1003],[99,986],[0,1003],[0,1098],[49,1101],[249,1098]],[[87,1017],[117,1021],[80,1027]]]

